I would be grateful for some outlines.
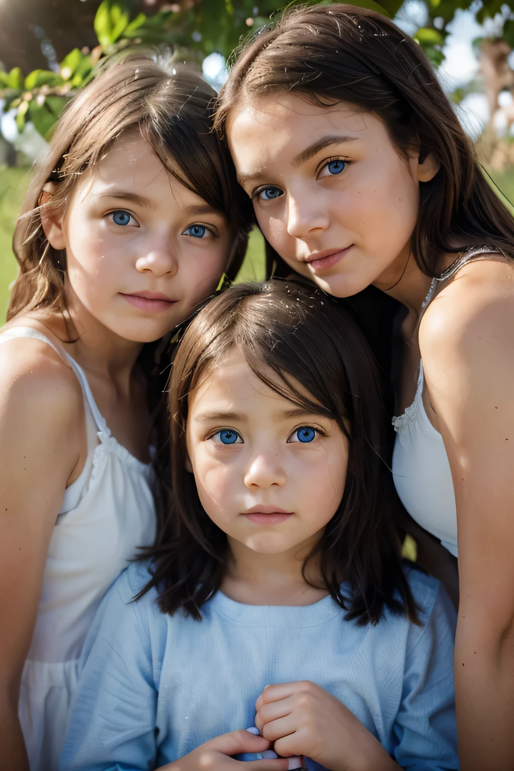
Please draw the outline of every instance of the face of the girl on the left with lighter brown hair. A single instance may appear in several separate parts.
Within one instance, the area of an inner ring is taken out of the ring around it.
[[[187,318],[230,254],[223,214],[171,177],[139,134],[120,137],[86,170],[45,231],[66,248],[69,300],[135,342]]]

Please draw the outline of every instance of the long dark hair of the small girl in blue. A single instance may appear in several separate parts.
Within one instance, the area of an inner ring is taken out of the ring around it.
[[[207,516],[186,472],[188,396],[232,348],[291,402],[334,419],[349,440],[348,474],[338,511],[307,561],[319,554],[324,585],[348,619],[378,623],[385,607],[416,608],[401,570],[395,520],[401,504],[384,460],[388,418],[374,359],[351,317],[316,288],[274,279],[239,284],[210,301],[180,343],[170,381],[173,499],[150,556],[160,609],[200,608],[219,588],[227,537]],[[297,381],[310,396],[304,396]],[[348,581],[346,595],[341,582]],[[142,593],[142,594],[143,594]]]

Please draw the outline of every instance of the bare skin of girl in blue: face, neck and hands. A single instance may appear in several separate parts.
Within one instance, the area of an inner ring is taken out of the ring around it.
[[[227,534],[230,559],[221,591],[258,605],[307,605],[325,597],[317,562],[307,570],[313,586],[301,569],[343,497],[348,439],[338,423],[277,394],[234,348],[189,396],[186,446],[202,506]],[[277,759],[256,762],[256,769],[296,768],[300,755],[331,771],[399,767],[338,699],[314,683],[269,686],[256,712],[264,739],[291,758],[289,766]],[[235,736],[213,739],[165,768],[196,771],[206,753],[212,757],[206,767],[235,768],[217,754]]]

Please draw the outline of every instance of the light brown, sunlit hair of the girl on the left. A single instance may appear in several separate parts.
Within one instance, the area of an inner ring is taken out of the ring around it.
[[[25,197],[13,238],[20,273],[8,319],[22,310],[65,310],[66,255],[52,248],[42,229],[42,189],[50,183],[45,207],[65,207],[80,173],[123,131],[139,130],[174,177],[227,217],[233,231],[227,274],[235,276],[244,258],[250,205],[238,194],[230,156],[211,130],[216,93],[166,56],[128,53],[109,64],[66,106]]]

